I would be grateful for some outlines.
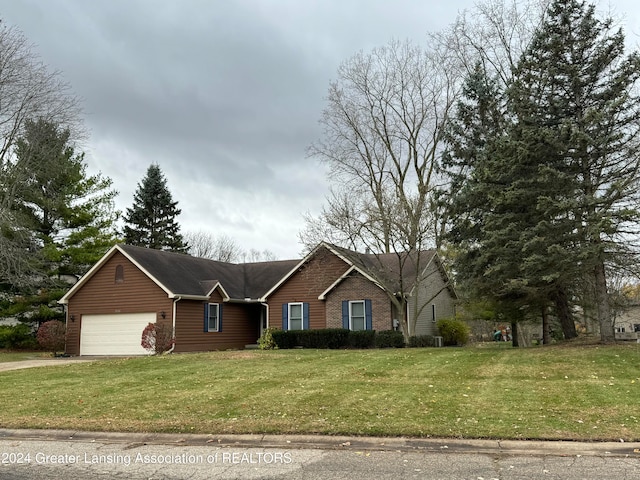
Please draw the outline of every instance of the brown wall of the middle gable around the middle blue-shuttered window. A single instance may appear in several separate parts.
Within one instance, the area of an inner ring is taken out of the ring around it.
[[[349,265],[325,248],[316,254],[268,298],[269,326],[282,328],[282,305],[309,304],[309,328],[327,328],[326,305],[318,296],[343,275]]]

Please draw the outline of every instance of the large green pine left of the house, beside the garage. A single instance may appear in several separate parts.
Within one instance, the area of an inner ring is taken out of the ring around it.
[[[85,273],[116,241],[111,179],[88,175],[69,129],[44,119],[25,122],[11,166],[16,228],[45,262],[39,276]]]

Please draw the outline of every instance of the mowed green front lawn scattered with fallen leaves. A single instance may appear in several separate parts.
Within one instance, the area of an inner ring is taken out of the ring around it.
[[[0,427],[640,440],[640,345],[238,351],[0,373]]]

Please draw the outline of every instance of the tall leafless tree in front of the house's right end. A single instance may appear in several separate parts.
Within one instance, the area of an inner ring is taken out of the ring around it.
[[[309,148],[328,165],[334,186],[320,215],[307,216],[302,242],[311,248],[325,240],[378,255],[379,281],[395,287],[390,300],[407,338],[420,313],[406,318],[409,292],[425,274],[423,251],[437,243],[431,204],[460,83],[454,60],[435,44],[423,49],[408,41],[348,59],[329,86],[323,136]],[[396,278],[382,278],[389,275]]]

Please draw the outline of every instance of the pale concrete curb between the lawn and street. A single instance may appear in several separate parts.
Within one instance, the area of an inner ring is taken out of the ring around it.
[[[127,445],[212,446],[488,455],[601,456],[640,459],[640,443],[444,438],[347,437],[328,435],[197,435],[0,429],[0,440],[88,442]]]

